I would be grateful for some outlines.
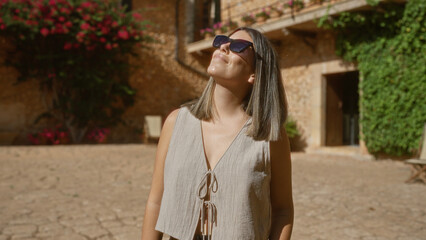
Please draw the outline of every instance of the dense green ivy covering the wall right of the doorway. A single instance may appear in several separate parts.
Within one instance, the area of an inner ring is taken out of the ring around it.
[[[360,72],[362,138],[373,154],[412,154],[426,122],[424,0],[378,3],[372,10],[324,16],[336,53]]]

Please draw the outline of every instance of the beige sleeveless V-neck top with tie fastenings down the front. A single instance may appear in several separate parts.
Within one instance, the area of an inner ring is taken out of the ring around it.
[[[157,231],[179,240],[192,240],[207,209],[207,225],[213,240],[268,239],[269,142],[255,141],[245,134],[250,122],[251,119],[210,170],[201,121],[186,107],[179,110],[165,160]],[[209,201],[205,200],[207,192]]]

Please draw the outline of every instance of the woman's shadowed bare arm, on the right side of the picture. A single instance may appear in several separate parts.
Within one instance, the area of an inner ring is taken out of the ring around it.
[[[290,143],[285,129],[270,142],[272,226],[270,240],[289,240],[293,229]]]

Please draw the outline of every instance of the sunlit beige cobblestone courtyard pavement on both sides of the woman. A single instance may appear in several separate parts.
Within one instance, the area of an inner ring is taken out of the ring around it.
[[[0,147],[0,240],[139,240],[155,145]],[[426,239],[401,162],[294,153],[292,239]]]

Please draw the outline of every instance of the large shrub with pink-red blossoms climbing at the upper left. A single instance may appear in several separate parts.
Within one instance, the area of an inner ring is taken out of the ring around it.
[[[37,79],[48,110],[80,142],[87,129],[120,122],[133,104],[127,58],[151,40],[140,12],[110,0],[0,0],[6,62],[18,81]]]

